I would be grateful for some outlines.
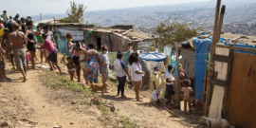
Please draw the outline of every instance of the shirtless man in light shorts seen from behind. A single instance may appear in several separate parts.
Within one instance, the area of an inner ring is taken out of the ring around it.
[[[16,65],[19,67],[24,81],[27,81],[27,67],[26,67],[26,51],[24,47],[27,45],[27,38],[25,34],[19,31],[19,24],[13,24],[13,32],[9,33],[8,41],[9,46],[13,47],[13,56]]]

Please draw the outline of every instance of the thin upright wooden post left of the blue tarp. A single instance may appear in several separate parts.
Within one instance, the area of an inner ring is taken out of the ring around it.
[[[179,61],[178,61],[178,46],[177,46],[177,43],[175,43],[175,48],[176,48],[176,71],[177,71],[177,80],[176,80],[176,83],[177,83],[177,88],[175,88],[175,103],[177,104],[177,106],[179,107],[180,109],[180,73],[179,73]]]

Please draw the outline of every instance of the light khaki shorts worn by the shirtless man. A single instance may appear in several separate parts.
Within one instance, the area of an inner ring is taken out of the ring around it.
[[[26,51],[24,48],[13,49],[13,57],[18,67],[26,66]]]

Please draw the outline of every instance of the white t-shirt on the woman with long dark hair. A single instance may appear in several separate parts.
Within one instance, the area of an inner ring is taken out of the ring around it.
[[[131,78],[134,82],[142,81],[142,74],[137,74],[136,71],[141,70],[141,65],[133,63],[131,66]]]

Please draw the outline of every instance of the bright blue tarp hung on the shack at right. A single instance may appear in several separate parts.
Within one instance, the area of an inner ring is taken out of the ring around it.
[[[207,44],[210,44],[210,49],[211,49],[211,40],[210,39],[193,39],[192,44],[196,48],[195,67],[194,67],[195,99],[203,101],[202,94],[204,89],[204,78],[205,78],[205,68],[206,68],[206,63],[205,63],[206,51],[207,51]],[[225,44],[225,46],[229,46],[229,44]],[[235,46],[256,48],[256,46],[250,46],[250,45],[235,44]],[[253,52],[247,52],[242,50],[235,50],[235,52],[256,54]]]

